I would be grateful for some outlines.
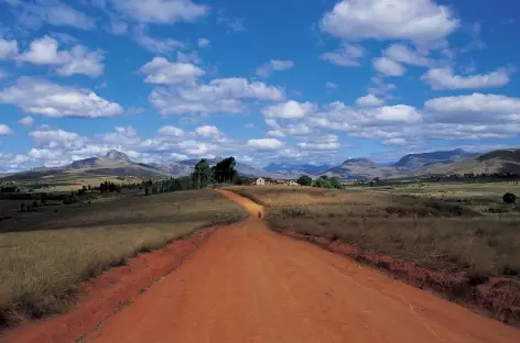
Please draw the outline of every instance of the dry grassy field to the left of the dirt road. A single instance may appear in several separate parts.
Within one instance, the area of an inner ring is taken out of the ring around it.
[[[15,201],[0,201],[0,324],[62,312],[78,284],[107,267],[199,228],[246,217],[212,190],[149,197],[123,191],[91,206],[17,209]]]

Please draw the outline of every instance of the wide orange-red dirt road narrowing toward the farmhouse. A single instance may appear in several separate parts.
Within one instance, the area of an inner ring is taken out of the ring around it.
[[[520,342],[520,331],[266,229],[261,209],[82,342]]]

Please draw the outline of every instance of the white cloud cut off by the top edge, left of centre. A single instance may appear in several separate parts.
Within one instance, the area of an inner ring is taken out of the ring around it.
[[[141,23],[193,22],[209,12],[191,0],[112,0],[115,8]]]

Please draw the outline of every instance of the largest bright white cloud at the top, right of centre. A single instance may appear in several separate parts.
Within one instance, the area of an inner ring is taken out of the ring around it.
[[[445,5],[432,0],[343,0],[327,12],[323,31],[345,41],[444,40],[458,26]]]

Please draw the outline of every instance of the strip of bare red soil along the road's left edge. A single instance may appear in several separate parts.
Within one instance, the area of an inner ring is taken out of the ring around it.
[[[107,317],[130,305],[150,286],[182,265],[214,230],[199,230],[158,251],[130,258],[124,266],[108,269],[82,285],[77,305],[71,312],[22,323],[0,333],[0,342],[75,342],[91,328],[102,325]]]

